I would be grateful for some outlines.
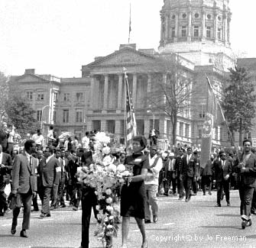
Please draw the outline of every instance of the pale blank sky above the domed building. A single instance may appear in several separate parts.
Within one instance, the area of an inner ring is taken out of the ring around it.
[[[128,43],[157,50],[164,0],[1,0],[0,71],[80,77],[81,66]],[[256,57],[254,0],[230,0],[235,53]]]

